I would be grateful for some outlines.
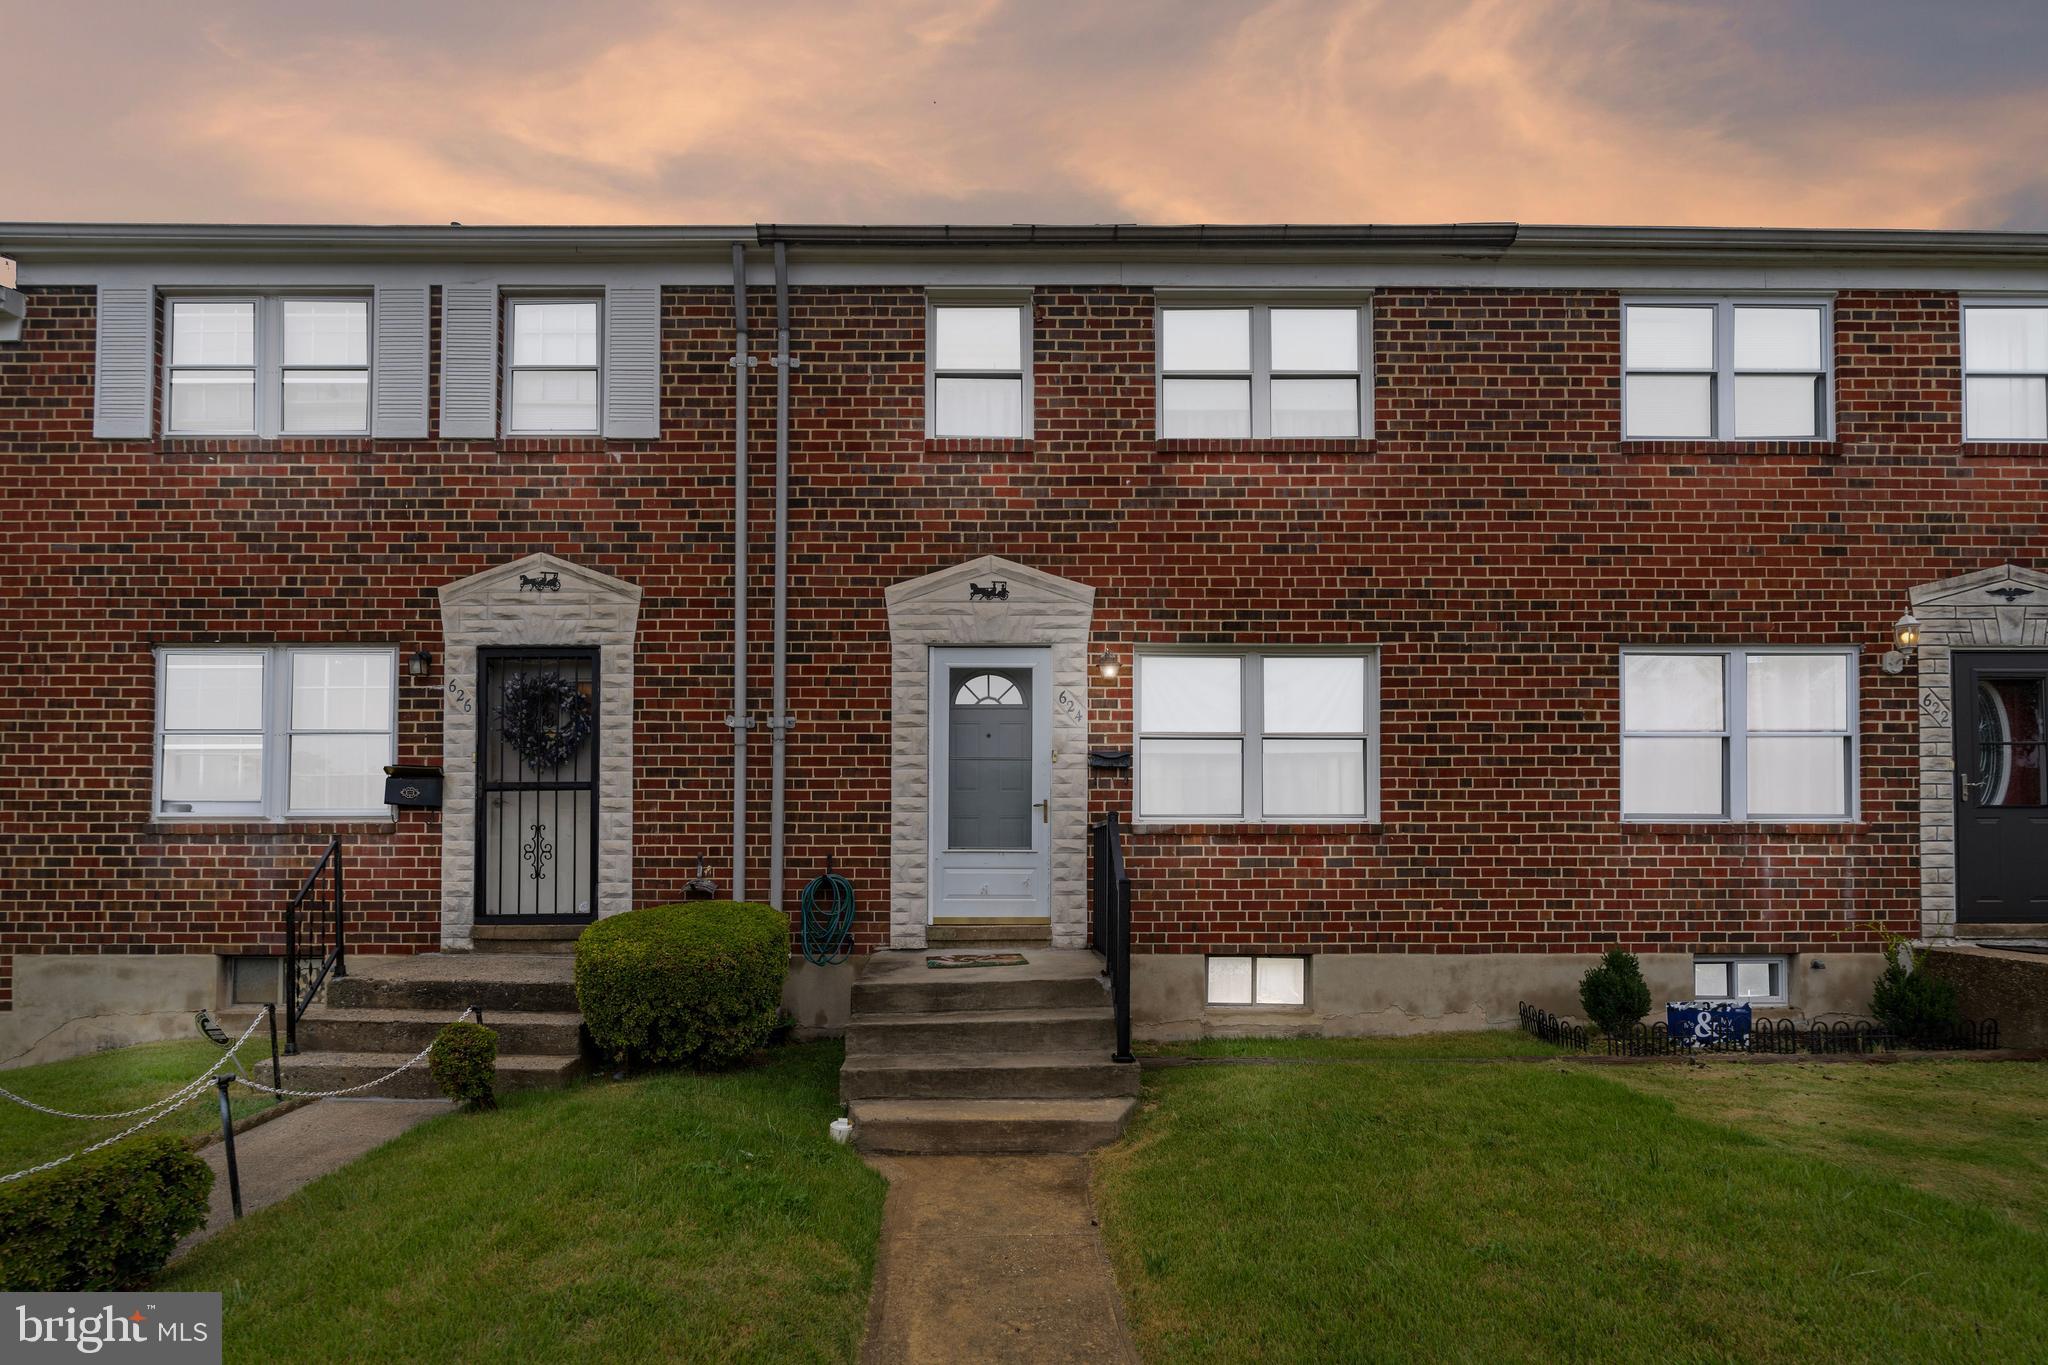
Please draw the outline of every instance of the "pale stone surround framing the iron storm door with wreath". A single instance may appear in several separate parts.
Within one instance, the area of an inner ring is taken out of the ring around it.
[[[440,945],[469,948],[477,860],[477,651],[598,649],[598,915],[633,909],[633,641],[641,589],[528,555],[440,589]]]

